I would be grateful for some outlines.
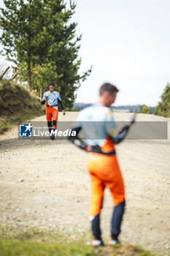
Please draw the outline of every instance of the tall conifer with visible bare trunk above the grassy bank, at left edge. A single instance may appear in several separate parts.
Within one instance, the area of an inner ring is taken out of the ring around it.
[[[43,4],[41,0],[4,0],[4,4],[6,8],[1,8],[0,18],[1,44],[9,61],[26,65],[31,91],[31,69],[47,36],[39,22]]]

